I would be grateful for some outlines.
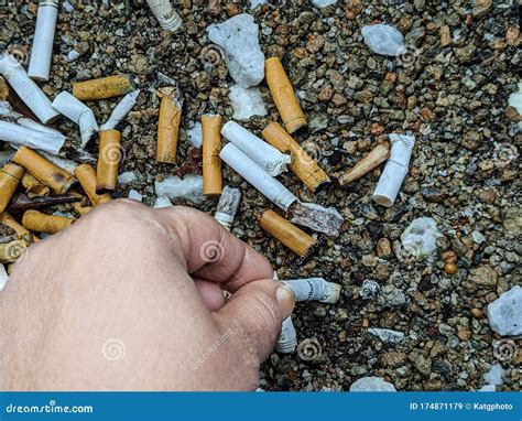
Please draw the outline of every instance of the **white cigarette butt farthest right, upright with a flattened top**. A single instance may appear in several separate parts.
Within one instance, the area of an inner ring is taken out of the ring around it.
[[[395,202],[402,182],[407,174],[415,137],[390,134],[390,141],[392,144],[390,158],[372,195],[373,201],[387,207],[392,206]]]

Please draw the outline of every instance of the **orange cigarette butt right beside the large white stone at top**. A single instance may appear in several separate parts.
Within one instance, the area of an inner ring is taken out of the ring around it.
[[[264,62],[264,77],[286,131],[293,133],[306,127],[306,117],[279,57],[270,57]]]

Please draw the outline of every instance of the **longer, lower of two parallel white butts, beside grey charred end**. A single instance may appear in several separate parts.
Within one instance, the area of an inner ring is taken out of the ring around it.
[[[221,149],[219,156],[269,201],[283,210],[286,210],[292,203],[297,201],[297,197],[295,197],[292,192],[273,176],[264,172],[261,166],[241,152],[233,143],[226,144]]]

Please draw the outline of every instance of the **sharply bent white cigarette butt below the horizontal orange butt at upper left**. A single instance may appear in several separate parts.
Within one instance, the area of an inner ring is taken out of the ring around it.
[[[79,126],[81,148],[85,148],[99,127],[93,110],[67,91],[63,91],[53,101],[53,108]]]

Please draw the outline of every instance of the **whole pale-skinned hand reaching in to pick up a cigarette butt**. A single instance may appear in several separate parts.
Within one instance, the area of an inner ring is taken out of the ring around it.
[[[203,213],[102,205],[0,293],[0,390],[255,389],[294,305],[272,273]]]

